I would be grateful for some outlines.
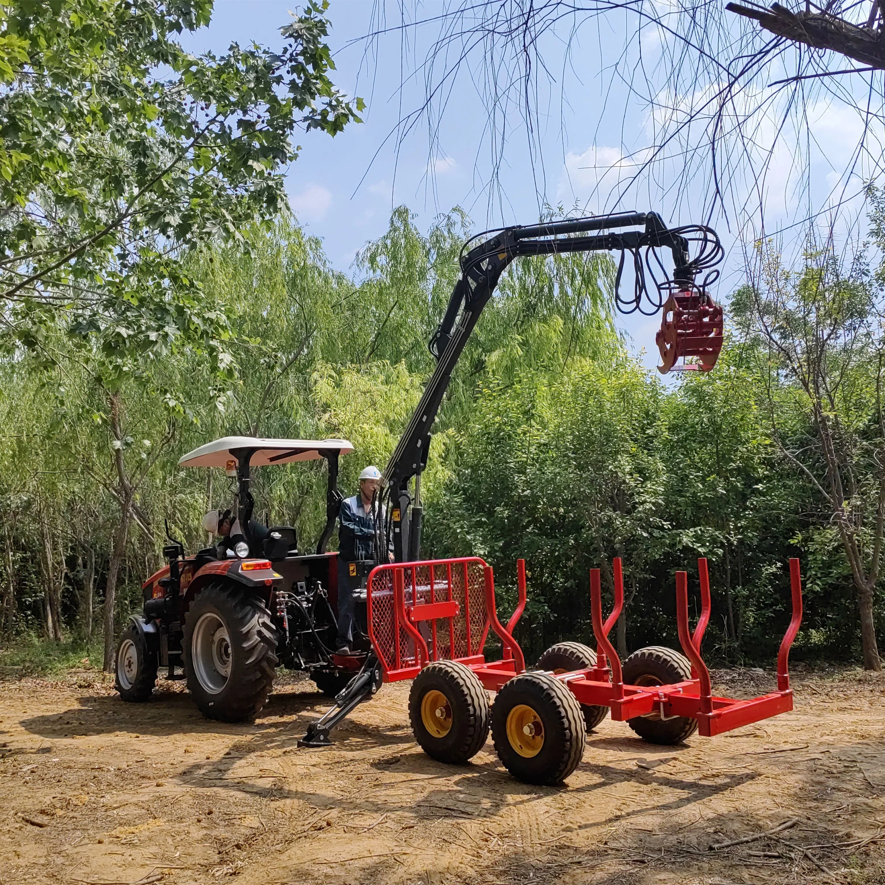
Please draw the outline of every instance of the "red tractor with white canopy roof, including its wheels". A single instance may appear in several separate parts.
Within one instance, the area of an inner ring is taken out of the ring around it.
[[[226,436],[181,458],[181,466],[223,467],[236,479],[242,535],[192,556],[170,538],[167,564],[144,582],[142,613],[119,641],[116,687],[123,700],[147,700],[165,667],[167,679],[187,679],[204,715],[248,720],[265,704],[278,665],[308,673],[330,697],[360,672],[367,638],[352,654],[335,654],[337,554],[326,552],[341,504],[338,459],[351,451],[346,440]],[[300,550],[291,526],[271,526],[258,537],[250,521],[251,469],[318,458],[328,465],[327,521],[315,549]],[[361,586],[365,596],[372,566],[353,564],[346,591]],[[377,689],[380,673],[370,674]]]

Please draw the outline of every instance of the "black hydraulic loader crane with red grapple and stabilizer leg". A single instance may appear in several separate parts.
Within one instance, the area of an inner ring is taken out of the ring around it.
[[[659,254],[662,250],[670,252],[671,273]],[[375,526],[376,555],[389,550],[392,542],[396,562],[420,558],[421,473],[427,466],[434,422],[451,373],[501,274],[514,259],[524,256],[599,251],[620,253],[615,278],[615,305],[620,312],[652,315],[663,310],[656,339],[662,360],[659,372],[709,371],[715,365],[722,347],[723,316],[707,287],[719,277],[713,268],[722,260],[723,250],[711,227],[670,228],[656,212],[619,212],[504,227],[474,236],[461,251],[458,282],[429,343],[436,359],[434,372],[384,471],[380,495],[385,506],[378,511],[385,518],[378,519]],[[620,293],[627,254],[633,258],[632,296]],[[649,281],[653,289],[649,289]],[[680,358],[683,363],[677,365]],[[336,698],[335,707],[308,728],[303,743],[326,746],[329,731],[380,685],[379,664],[370,653],[357,676]]]

